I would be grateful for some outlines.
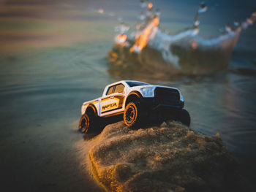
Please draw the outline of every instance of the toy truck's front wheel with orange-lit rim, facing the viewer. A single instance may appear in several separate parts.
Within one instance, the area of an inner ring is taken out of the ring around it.
[[[139,102],[129,102],[124,109],[124,124],[129,127],[136,127],[140,124]]]

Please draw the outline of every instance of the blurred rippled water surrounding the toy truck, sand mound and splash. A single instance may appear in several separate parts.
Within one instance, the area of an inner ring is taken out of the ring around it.
[[[152,1],[161,28],[192,26],[201,1]],[[217,37],[227,23],[256,10],[250,0],[208,0],[200,36]],[[99,191],[86,174],[78,133],[83,101],[122,77],[109,73],[108,52],[122,18],[135,28],[137,0],[0,0],[0,177],[3,188]],[[221,135],[244,180],[256,171],[256,25],[242,31],[230,69],[174,80],[140,79],[181,89],[192,128]],[[246,72],[233,70],[243,66]],[[86,188],[85,188],[86,186]]]

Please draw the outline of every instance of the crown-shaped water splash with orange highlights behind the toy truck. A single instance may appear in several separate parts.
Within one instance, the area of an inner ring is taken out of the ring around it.
[[[226,25],[225,31],[219,36],[205,39],[199,36],[200,15],[208,9],[204,2],[197,9],[193,25],[174,35],[159,28],[160,11],[153,8],[151,1],[141,1],[141,7],[143,11],[136,31],[128,34],[127,29],[125,36],[124,32],[116,36],[116,45],[110,51],[113,69],[116,68],[115,62],[118,70],[136,67],[134,70],[129,69],[129,72],[133,72],[138,70],[139,65],[149,74],[157,72],[162,73],[162,76],[177,73],[207,74],[227,69],[241,31],[256,20],[256,12],[252,12],[244,22],[234,21],[233,26]]]

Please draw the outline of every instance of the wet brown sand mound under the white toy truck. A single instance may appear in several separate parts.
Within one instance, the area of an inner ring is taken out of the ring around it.
[[[236,161],[219,134],[178,123],[132,130],[106,126],[89,150],[92,172],[108,191],[238,191]]]

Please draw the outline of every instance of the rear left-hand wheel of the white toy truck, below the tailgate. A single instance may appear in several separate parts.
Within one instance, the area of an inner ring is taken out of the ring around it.
[[[97,122],[98,121],[98,122]],[[91,133],[93,131],[97,131],[97,125],[99,124],[99,120],[93,113],[85,113],[79,122],[79,131],[82,133]]]

